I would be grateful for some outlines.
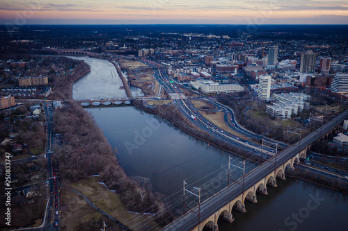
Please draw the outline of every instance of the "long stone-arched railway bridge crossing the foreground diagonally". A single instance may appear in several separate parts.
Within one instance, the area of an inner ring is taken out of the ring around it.
[[[205,228],[217,231],[220,217],[232,223],[233,208],[246,212],[245,200],[256,203],[256,192],[267,194],[267,185],[276,187],[276,178],[285,180],[285,168],[293,168],[293,164],[299,162],[300,158],[306,158],[306,154],[315,140],[337,132],[340,129],[340,123],[347,118],[348,110],[300,139],[296,144],[288,146],[284,151],[205,200],[200,206],[191,209],[191,212],[187,212],[173,223],[166,225],[162,230],[202,231]]]

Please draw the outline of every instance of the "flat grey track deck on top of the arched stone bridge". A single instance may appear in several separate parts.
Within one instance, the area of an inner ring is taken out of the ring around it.
[[[262,178],[274,171],[274,169],[276,169],[278,166],[284,164],[287,162],[287,160],[294,157],[297,153],[299,153],[299,150],[306,148],[306,146],[314,142],[316,139],[319,139],[321,134],[329,132],[329,130],[341,123],[343,120],[347,119],[347,117],[348,110],[338,115],[337,119],[329,121],[329,123],[326,123],[321,128],[318,128],[296,144],[287,147],[284,151],[278,153],[278,155],[272,157],[269,161],[264,162],[252,171],[246,173],[244,176],[244,189],[248,189],[249,187],[255,185]],[[239,178],[238,181],[242,182],[242,178]],[[211,216],[214,212],[216,212],[217,209],[229,203],[230,200],[236,198],[239,196],[239,194],[242,194],[242,190],[242,185],[233,183],[230,185],[230,187],[226,187],[208,200],[205,200],[205,202],[200,205],[200,221],[207,219],[207,217]],[[195,211],[198,211],[197,207],[195,208]],[[198,216],[193,212],[188,212],[184,216],[181,216],[179,219],[173,221],[173,223],[167,225],[162,230],[186,231],[191,230],[192,228],[196,227],[196,225],[198,225]]]

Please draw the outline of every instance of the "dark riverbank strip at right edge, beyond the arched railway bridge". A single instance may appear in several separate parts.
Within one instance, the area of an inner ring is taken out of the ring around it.
[[[328,189],[340,191],[343,194],[348,194],[348,185],[347,181],[345,180],[329,180],[328,178],[323,178],[322,176],[313,173],[313,171],[307,171],[302,169],[287,169],[287,171],[285,171],[285,176],[288,176],[290,178],[301,179],[313,183],[315,185],[319,185],[321,187],[326,187]]]

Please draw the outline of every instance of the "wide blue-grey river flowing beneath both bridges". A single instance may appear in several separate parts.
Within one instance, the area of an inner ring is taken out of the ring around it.
[[[109,92],[105,92],[102,84],[84,89],[85,78],[92,81],[88,86],[100,77],[92,78],[88,74],[74,83],[74,99],[78,99],[75,96],[90,99],[91,94],[93,99],[98,99],[97,92],[102,92],[100,99],[106,98]],[[77,90],[79,94],[74,92]],[[195,190],[193,187],[201,187],[203,200],[226,187],[228,154],[219,148],[133,106],[86,110],[93,115],[111,146],[117,148],[116,156],[127,175],[149,178],[153,189],[170,197],[176,209],[182,203],[182,180],[187,181],[187,189],[191,191]],[[242,166],[239,157],[230,156],[233,164]],[[255,166],[246,162],[246,171]],[[236,178],[240,174],[240,171],[232,172]],[[257,194],[258,203],[246,202],[246,213],[233,212],[232,224],[219,221],[219,230],[347,230],[347,195],[292,178],[277,179],[277,184],[277,188],[267,187],[268,196]],[[187,199],[191,205],[196,202],[194,196]]]

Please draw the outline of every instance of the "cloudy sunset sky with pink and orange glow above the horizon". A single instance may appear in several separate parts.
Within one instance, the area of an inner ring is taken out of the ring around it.
[[[0,0],[0,24],[348,24],[348,1]]]

